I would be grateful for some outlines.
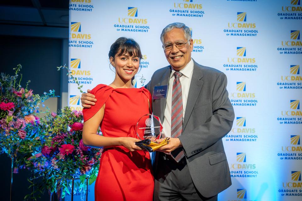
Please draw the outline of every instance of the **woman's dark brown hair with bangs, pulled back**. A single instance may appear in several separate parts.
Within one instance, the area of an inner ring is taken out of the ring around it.
[[[131,56],[139,57],[140,59],[143,58],[141,48],[139,47],[138,43],[134,41],[132,38],[120,37],[118,38],[110,47],[109,51],[109,58],[115,57],[118,53],[118,57],[122,56],[123,54],[128,54]]]

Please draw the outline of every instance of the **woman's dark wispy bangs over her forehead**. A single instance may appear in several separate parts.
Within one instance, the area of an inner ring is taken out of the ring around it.
[[[119,53],[117,54],[118,57],[122,55],[129,55],[130,57],[139,57],[140,59],[143,58],[143,55],[141,53],[141,49],[137,42],[134,40],[127,40],[124,43],[120,45]]]

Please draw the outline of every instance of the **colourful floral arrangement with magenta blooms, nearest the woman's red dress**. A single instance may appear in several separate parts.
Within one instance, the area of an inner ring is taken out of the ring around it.
[[[44,132],[41,152],[29,158],[37,164],[36,170],[43,177],[36,191],[46,188],[51,193],[57,192],[60,199],[70,194],[70,180],[80,178],[82,190],[86,189],[86,178],[89,185],[96,180],[101,150],[83,144],[82,121],[83,113],[71,111],[69,107],[58,113],[48,112],[40,120]]]

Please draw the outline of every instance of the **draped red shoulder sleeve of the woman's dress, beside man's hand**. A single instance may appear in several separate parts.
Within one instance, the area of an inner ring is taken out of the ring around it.
[[[94,106],[90,108],[83,109],[84,122],[93,117],[105,104],[106,100],[109,98],[113,88],[105,84],[98,84],[91,90],[91,94],[95,95],[97,102]]]

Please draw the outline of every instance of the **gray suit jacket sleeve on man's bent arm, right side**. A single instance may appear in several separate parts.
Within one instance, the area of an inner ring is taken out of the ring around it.
[[[215,144],[231,130],[234,110],[228,98],[226,84],[226,75],[220,73],[212,92],[212,115],[194,129],[185,129],[178,137],[187,157],[198,154]],[[189,119],[189,121],[194,121],[194,119]]]

